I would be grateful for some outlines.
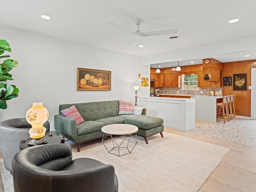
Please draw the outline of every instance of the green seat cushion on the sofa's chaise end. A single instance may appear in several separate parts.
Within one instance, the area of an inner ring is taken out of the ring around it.
[[[162,118],[146,116],[146,115],[134,115],[124,120],[125,124],[135,125],[140,129],[150,129],[164,123]]]

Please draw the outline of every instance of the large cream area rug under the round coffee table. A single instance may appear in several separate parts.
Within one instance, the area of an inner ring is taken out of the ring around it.
[[[87,157],[112,164],[119,182],[119,192],[196,192],[222,158],[228,148],[164,132],[148,138],[138,136],[138,143],[130,154],[116,156],[107,152],[100,140],[81,146],[70,141],[73,158]],[[116,137],[116,142],[122,138]],[[130,140],[131,150],[134,140]],[[106,146],[112,144],[106,140]],[[123,150],[123,149],[120,149]],[[124,149],[126,150],[126,149]],[[0,169],[5,192],[12,192],[12,178],[4,171],[2,159]]]

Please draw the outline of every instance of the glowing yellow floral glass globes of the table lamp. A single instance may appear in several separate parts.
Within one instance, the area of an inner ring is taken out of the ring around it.
[[[30,138],[38,139],[45,136],[46,128],[43,125],[48,117],[49,112],[42,102],[33,103],[33,106],[26,112],[26,120],[32,125],[29,130]]]

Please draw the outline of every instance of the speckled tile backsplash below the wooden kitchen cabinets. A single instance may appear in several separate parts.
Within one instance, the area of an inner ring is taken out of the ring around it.
[[[160,91],[158,91],[159,94],[184,94],[184,95],[209,95],[210,91],[221,91],[221,87],[200,87],[199,90],[182,90],[181,88],[178,87],[173,87],[173,88],[159,88]],[[150,93],[154,94],[155,89],[150,88]],[[200,94],[200,92],[203,92]]]

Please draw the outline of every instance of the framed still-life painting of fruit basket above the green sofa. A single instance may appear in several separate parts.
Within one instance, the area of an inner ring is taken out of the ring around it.
[[[110,91],[111,71],[77,68],[78,91]]]

